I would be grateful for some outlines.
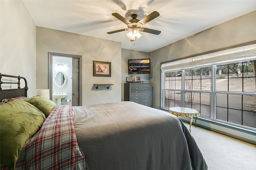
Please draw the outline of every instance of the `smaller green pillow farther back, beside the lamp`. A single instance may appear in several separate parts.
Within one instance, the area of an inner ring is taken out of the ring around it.
[[[56,103],[44,96],[34,96],[25,100],[26,102],[34,105],[36,108],[41,110],[47,117],[56,106]]]

